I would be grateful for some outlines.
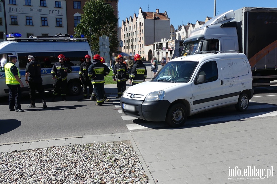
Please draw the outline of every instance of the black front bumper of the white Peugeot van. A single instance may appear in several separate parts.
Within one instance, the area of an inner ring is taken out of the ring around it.
[[[135,111],[129,111],[122,108],[122,103],[126,105],[133,105]],[[159,101],[142,101],[122,97],[120,99],[120,106],[126,115],[137,117],[146,121],[165,121],[167,109],[170,106],[167,100]]]

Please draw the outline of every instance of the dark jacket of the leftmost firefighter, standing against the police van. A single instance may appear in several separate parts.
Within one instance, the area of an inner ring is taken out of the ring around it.
[[[66,72],[64,70],[67,70]],[[66,80],[67,73],[71,73],[72,68],[66,63],[56,62],[51,70],[52,77],[56,77],[58,80]]]

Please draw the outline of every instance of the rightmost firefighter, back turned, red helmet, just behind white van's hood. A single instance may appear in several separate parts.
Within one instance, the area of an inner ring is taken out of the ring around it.
[[[139,54],[134,55],[134,61],[135,61],[135,64],[132,68],[130,81],[129,81],[131,84],[133,80],[132,86],[145,81],[145,79],[147,78],[147,70],[145,65],[141,61],[141,57]]]

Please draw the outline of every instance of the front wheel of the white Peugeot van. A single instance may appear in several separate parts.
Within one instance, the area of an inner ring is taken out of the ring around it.
[[[166,122],[171,127],[181,127],[187,120],[187,109],[183,104],[172,105],[167,112]]]

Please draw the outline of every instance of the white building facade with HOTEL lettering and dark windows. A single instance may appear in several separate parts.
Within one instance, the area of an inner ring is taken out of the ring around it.
[[[6,0],[6,34],[22,37],[67,33],[66,0]]]

